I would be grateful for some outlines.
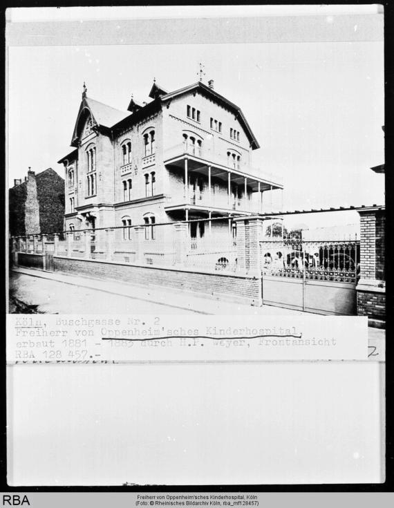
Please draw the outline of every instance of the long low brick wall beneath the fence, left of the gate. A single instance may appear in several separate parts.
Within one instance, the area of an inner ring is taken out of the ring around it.
[[[89,275],[100,279],[113,279],[135,284],[152,284],[229,297],[252,305],[261,304],[261,278],[191,272],[181,269],[123,265],[122,263],[88,261],[54,256],[55,271]]]

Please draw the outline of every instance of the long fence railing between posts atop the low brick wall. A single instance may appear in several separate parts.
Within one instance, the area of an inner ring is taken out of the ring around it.
[[[223,218],[227,227],[228,218]],[[193,221],[191,221],[193,222]],[[179,227],[178,227],[179,226]],[[212,226],[214,230],[215,225]],[[93,233],[67,232],[63,240],[55,234],[12,238],[14,252],[94,261],[135,263],[153,267],[189,267],[198,270],[236,269],[236,241],[229,233],[211,236],[208,227],[205,238],[191,238],[189,224],[126,226]]]

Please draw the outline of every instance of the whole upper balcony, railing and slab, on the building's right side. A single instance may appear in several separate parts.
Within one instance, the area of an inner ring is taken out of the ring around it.
[[[200,147],[197,144],[180,143],[167,149],[164,154],[164,162],[167,167],[185,167],[185,158],[188,160],[188,171],[208,174],[227,181],[228,173],[231,180],[240,184],[247,179],[247,184],[252,191],[267,191],[283,189],[283,178],[260,168],[252,167],[241,161],[228,160],[227,153],[214,151],[211,147]]]

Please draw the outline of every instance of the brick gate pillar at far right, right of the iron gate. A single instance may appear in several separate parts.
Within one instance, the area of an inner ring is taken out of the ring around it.
[[[357,283],[357,314],[368,316],[371,326],[384,328],[386,283],[384,281],[384,225],[381,207],[359,209],[360,260]]]

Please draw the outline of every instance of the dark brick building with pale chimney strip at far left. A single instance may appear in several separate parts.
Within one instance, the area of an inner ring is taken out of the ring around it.
[[[24,181],[9,190],[9,226],[12,236],[54,233],[64,229],[64,180],[52,168],[35,174],[29,168]]]

